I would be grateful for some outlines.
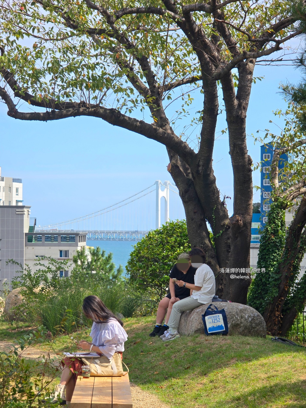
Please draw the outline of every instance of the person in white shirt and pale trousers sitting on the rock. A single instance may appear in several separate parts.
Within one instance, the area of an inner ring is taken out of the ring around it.
[[[181,280],[177,282],[177,285],[191,289],[192,294],[190,297],[186,297],[186,299],[182,299],[172,306],[172,311],[168,322],[169,329],[164,333],[164,335],[160,336],[163,341],[169,341],[180,337],[177,330],[182,312],[192,310],[204,303],[210,303],[215,296],[215,275],[213,274],[211,268],[204,264],[204,251],[202,251],[201,248],[193,248],[189,252],[189,255],[191,257],[191,265],[198,267],[195,273],[195,283],[190,284]]]

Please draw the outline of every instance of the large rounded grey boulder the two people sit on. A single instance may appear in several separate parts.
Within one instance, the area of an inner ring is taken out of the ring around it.
[[[228,322],[228,335],[266,337],[266,323],[257,310],[240,303],[214,302],[217,308],[224,309]],[[203,304],[193,310],[182,313],[179,333],[191,335],[193,333],[204,333],[202,315],[205,313],[209,303]]]

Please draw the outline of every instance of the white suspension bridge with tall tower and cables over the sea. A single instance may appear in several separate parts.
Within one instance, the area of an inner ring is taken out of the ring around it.
[[[152,200],[154,192],[155,200]],[[171,218],[170,196],[171,212],[174,215]],[[75,231],[86,234],[87,239],[92,241],[136,242],[142,239],[150,229],[160,228],[170,219],[177,218],[184,218],[184,208],[177,187],[169,181],[162,183],[160,180],[156,180],[151,186],[111,206],[67,221],[36,226],[35,232],[61,231],[61,233],[72,233]],[[103,225],[111,226],[112,224],[113,228],[102,228]],[[116,224],[119,224],[121,228],[115,228]],[[137,228],[135,228],[135,224]],[[145,225],[146,228],[138,229],[139,224]],[[133,226],[134,228],[125,229],[122,228],[122,225]]]

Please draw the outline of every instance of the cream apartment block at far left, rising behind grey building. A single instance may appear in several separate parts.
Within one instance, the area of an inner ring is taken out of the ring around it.
[[[22,179],[2,177],[0,167],[0,205],[22,205]]]

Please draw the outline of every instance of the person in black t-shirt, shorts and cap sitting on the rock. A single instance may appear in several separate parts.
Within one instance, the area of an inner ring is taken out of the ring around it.
[[[190,256],[186,253],[179,255],[177,263],[173,266],[170,272],[169,281],[169,293],[160,301],[157,309],[156,315],[156,326],[154,327],[152,333],[149,334],[151,337],[161,336],[169,328],[167,326],[172,306],[178,300],[185,299],[191,295],[191,290],[186,287],[180,287],[175,283],[175,280],[183,280],[186,283],[195,283],[195,271],[197,268],[191,266]],[[168,310],[167,310],[168,309]],[[162,326],[164,317],[166,316],[165,324]]]

